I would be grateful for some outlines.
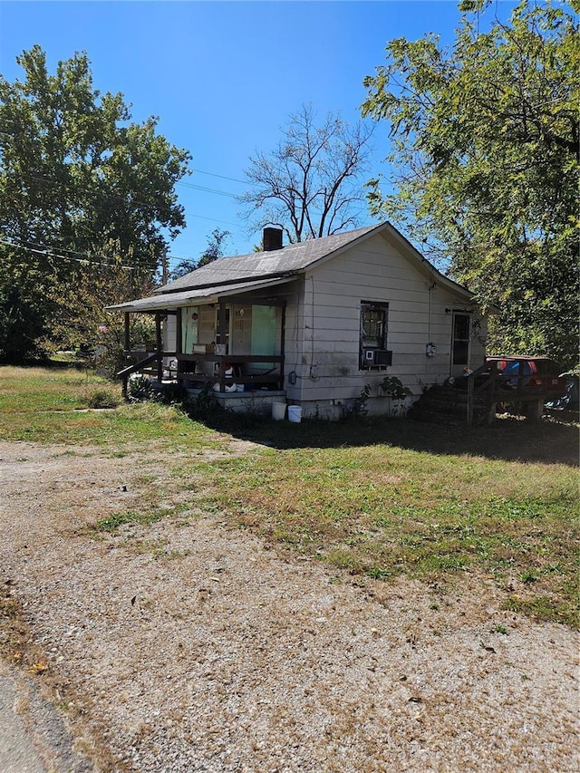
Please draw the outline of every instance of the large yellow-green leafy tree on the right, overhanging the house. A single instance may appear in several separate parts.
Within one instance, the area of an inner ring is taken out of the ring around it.
[[[466,2],[449,49],[388,44],[362,113],[389,121],[400,225],[481,302],[491,347],[577,362],[579,38],[569,6],[523,2],[508,24]]]

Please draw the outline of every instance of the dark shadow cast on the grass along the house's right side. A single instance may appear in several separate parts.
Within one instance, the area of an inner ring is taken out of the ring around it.
[[[405,419],[303,420],[218,414],[204,421],[215,430],[275,449],[339,448],[387,444],[432,454],[578,467],[578,424],[560,417],[541,421],[498,418],[492,427],[445,426]]]

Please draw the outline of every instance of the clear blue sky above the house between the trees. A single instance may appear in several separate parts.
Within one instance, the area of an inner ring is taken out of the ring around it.
[[[248,156],[273,149],[287,116],[305,102],[320,116],[333,110],[358,120],[362,79],[384,62],[391,38],[434,32],[450,43],[458,23],[454,0],[3,0],[0,72],[20,77],[15,57],[35,43],[51,71],[86,51],[95,88],[122,92],[134,121],[159,116],[160,133],[193,156],[196,171],[177,188],[188,227],[170,254],[198,257],[215,227],[231,232],[228,253],[243,254],[259,241],[233,198],[245,189]],[[386,170],[386,134],[379,127],[369,176]]]

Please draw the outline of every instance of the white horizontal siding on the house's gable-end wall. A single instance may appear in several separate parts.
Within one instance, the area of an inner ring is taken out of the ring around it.
[[[449,376],[452,323],[452,314],[445,310],[464,308],[465,299],[437,285],[437,277],[435,283],[430,293],[430,277],[381,235],[307,274],[304,303],[294,317],[286,316],[286,323],[289,318],[295,322],[295,370],[301,376],[291,399],[304,404],[353,400],[365,383],[377,393],[387,374],[400,378],[415,395],[426,384],[444,381]],[[392,365],[384,371],[359,371],[361,301],[389,304]],[[485,325],[481,332],[485,334]],[[293,346],[286,341],[289,363]],[[425,356],[430,341],[437,346],[433,358]],[[471,353],[478,366],[484,349],[475,340]],[[291,369],[289,363],[286,372]]]

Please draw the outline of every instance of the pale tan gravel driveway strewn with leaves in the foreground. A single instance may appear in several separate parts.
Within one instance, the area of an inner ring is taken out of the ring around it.
[[[0,633],[47,770],[579,769],[575,633],[482,577],[362,580],[216,514],[95,539],[148,461],[100,453],[0,442]]]

